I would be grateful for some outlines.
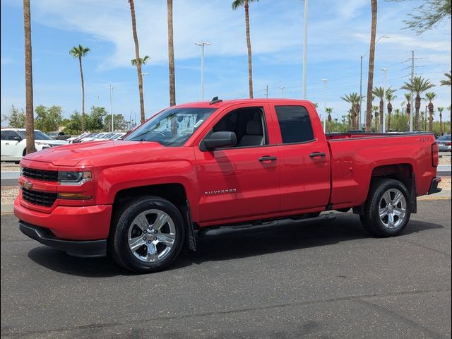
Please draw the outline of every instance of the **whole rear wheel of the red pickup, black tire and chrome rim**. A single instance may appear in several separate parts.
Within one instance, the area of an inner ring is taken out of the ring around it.
[[[410,194],[395,179],[377,179],[371,184],[364,204],[362,225],[376,237],[393,237],[402,232],[410,220]]]

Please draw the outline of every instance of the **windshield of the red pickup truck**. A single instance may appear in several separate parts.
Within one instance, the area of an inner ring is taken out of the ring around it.
[[[124,140],[182,146],[214,111],[215,108],[168,108],[138,127]]]

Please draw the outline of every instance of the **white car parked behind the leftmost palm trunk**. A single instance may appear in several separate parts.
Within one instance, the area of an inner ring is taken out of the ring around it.
[[[25,140],[25,129],[2,129],[1,133],[1,156],[22,157],[25,155],[27,141]],[[54,140],[35,129],[35,148],[43,150],[58,145],[67,145],[64,140]]]

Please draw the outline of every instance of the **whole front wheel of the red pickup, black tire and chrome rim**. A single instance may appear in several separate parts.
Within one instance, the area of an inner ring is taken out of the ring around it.
[[[109,254],[133,272],[157,272],[177,258],[184,234],[184,220],[176,206],[157,196],[143,196],[114,218]]]

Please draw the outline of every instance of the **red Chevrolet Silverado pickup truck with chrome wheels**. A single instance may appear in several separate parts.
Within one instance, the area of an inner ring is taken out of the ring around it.
[[[330,218],[352,208],[400,233],[440,191],[432,133],[323,133],[301,100],[214,98],[169,107],[125,140],[64,145],[20,162],[20,230],[136,272],[167,267],[199,230]]]

